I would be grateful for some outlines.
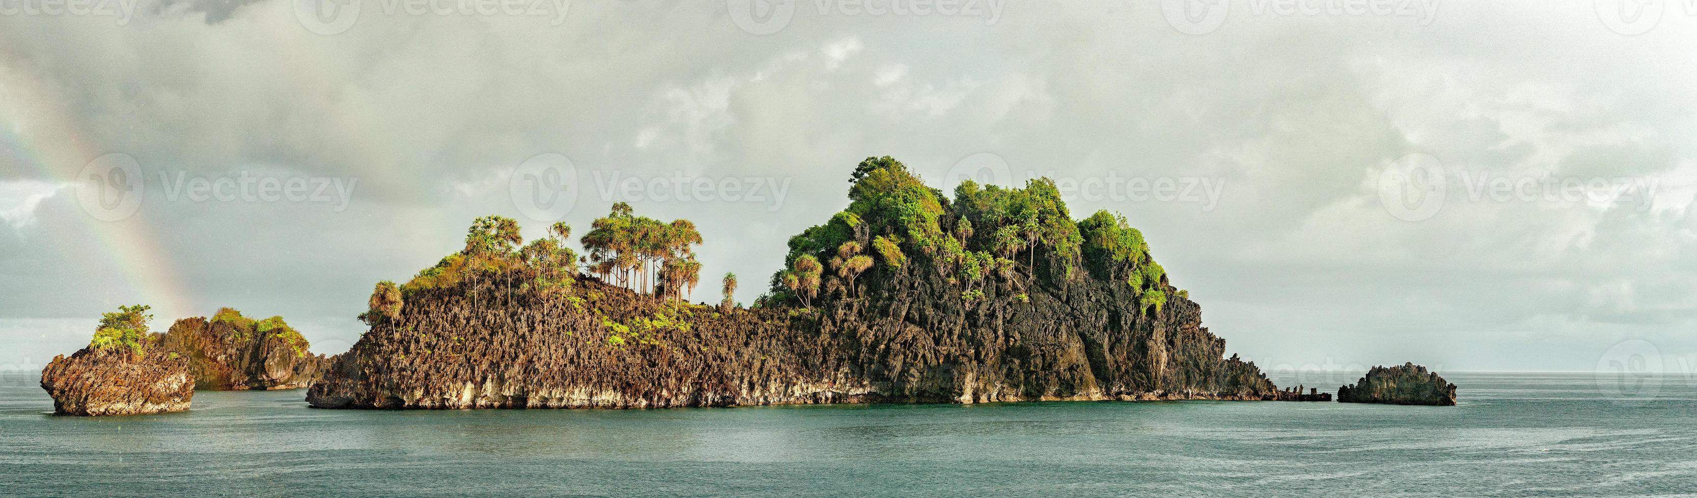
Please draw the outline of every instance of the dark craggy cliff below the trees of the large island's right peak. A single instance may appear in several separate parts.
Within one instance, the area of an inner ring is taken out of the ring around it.
[[[925,266],[882,268],[876,291],[833,300],[813,334],[884,401],[1278,398],[1254,364],[1224,359],[1188,298],[1145,308],[1122,281],[1039,263],[1035,283],[977,300]]]

